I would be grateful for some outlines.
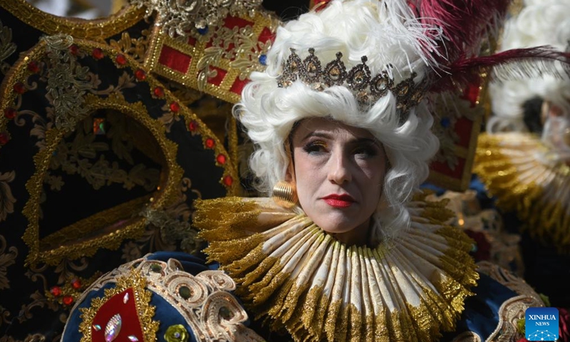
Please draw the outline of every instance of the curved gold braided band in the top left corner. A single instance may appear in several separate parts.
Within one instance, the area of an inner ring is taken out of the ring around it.
[[[108,18],[81,20],[53,16],[36,9],[24,0],[2,1],[0,7],[23,21],[25,24],[37,28],[49,36],[68,34],[75,38],[103,41],[103,39],[127,30],[134,26],[145,16],[144,9],[136,6],[127,6],[118,14]]]

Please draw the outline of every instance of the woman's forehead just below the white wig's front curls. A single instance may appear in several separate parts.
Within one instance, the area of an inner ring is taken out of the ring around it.
[[[331,138],[339,135],[348,135],[357,139],[374,138],[374,135],[366,128],[354,127],[331,118],[306,118],[296,123],[295,126],[294,140],[302,140],[313,133],[325,133],[331,135]]]

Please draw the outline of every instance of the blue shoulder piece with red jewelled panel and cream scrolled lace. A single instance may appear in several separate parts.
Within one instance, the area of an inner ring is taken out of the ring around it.
[[[147,254],[101,276],[71,310],[67,341],[261,342],[234,281],[180,252]]]

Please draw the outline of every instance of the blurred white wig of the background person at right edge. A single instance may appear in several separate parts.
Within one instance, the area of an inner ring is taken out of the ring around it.
[[[565,51],[570,40],[570,0],[527,0],[517,16],[507,20],[500,51],[549,45]],[[517,81],[491,83],[493,116],[487,133],[527,131],[524,103],[532,98],[549,100],[570,113],[570,78],[560,65],[558,76],[544,75]]]

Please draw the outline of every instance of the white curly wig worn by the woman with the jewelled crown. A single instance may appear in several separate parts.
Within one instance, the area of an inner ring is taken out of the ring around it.
[[[257,146],[250,166],[259,177],[259,190],[269,195],[275,183],[285,179],[290,160],[285,142],[294,124],[304,118],[331,118],[369,130],[383,143],[390,162],[371,241],[389,239],[408,227],[410,215],[404,204],[427,178],[428,162],[439,147],[430,130],[433,119],[427,105],[422,102],[400,118],[391,92],[363,109],[346,86],[318,91],[295,81],[288,88],[279,88],[277,78],[290,48],[295,48],[301,59],[314,48],[323,65],[333,61],[339,51],[347,70],[367,56],[372,76],[391,64],[395,84],[410,78],[412,71],[418,84],[431,68],[437,68],[435,60],[423,51],[436,50],[433,37],[440,38],[440,34],[438,28],[420,24],[405,1],[332,1],[325,9],[303,14],[278,28],[266,71],[252,73],[242,102],[234,108]]]

